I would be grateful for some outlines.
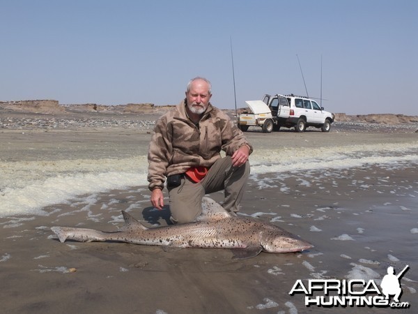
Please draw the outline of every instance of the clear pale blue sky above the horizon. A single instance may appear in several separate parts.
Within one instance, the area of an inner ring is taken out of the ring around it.
[[[347,114],[418,115],[416,0],[0,0],[0,100],[175,105],[320,98]],[[318,100],[318,103],[320,100]]]

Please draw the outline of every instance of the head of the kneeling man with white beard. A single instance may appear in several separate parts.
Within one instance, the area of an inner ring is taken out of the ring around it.
[[[187,108],[194,114],[203,114],[208,108],[211,96],[208,83],[203,80],[195,80],[190,85],[190,90],[186,91]]]

